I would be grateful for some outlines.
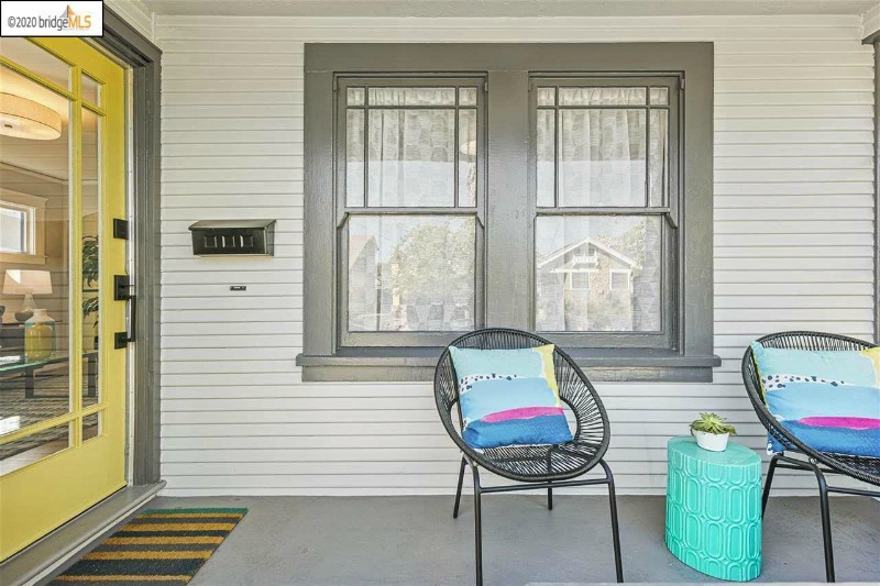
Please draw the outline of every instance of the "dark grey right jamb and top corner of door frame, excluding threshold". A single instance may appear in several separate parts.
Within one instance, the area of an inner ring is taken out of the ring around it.
[[[105,5],[96,43],[131,67],[130,240],[138,297],[129,392],[129,483],[160,482],[160,180],[162,51]]]

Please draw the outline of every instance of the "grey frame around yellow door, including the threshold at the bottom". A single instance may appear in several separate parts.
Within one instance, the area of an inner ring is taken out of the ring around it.
[[[6,584],[57,574],[143,508],[164,486],[160,477],[160,187],[162,51],[103,7],[95,45],[130,67],[128,141],[130,255],[138,296],[135,346],[127,397],[129,486],[0,564]]]

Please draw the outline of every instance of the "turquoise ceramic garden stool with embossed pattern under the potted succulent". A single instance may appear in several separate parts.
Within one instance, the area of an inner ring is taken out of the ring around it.
[[[741,445],[708,452],[691,436],[668,445],[667,548],[712,577],[761,573],[761,458]]]

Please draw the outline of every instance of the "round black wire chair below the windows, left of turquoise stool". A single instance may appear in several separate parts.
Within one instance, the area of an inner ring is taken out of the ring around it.
[[[450,345],[477,350],[513,350],[550,343],[552,342],[528,332],[493,328],[464,334]],[[459,486],[455,491],[455,505],[452,510],[452,517],[455,519],[459,517],[459,504],[461,502],[461,489],[466,465],[471,466],[474,478],[474,541],[477,586],[483,584],[482,495],[547,488],[547,507],[552,510],[553,487],[603,484],[608,485],[617,582],[624,582],[614,477],[608,465],[602,460],[608,449],[610,439],[608,417],[593,385],[590,384],[574,361],[559,347],[553,352],[553,367],[557,384],[559,385],[560,399],[573,411],[578,423],[572,441],[554,445],[515,445],[475,450],[461,436],[463,427],[461,409],[457,409],[457,416],[452,414],[453,408],[459,405],[459,383],[449,347],[443,351],[440,362],[437,364],[433,378],[437,410],[440,412],[440,420],[443,422],[443,427],[450,438],[462,452]],[[602,466],[605,471],[604,478],[573,479],[591,471],[596,465]],[[498,476],[526,484],[482,487],[477,471],[480,467]]]

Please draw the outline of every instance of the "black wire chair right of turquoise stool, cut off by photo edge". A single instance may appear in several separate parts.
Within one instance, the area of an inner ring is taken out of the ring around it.
[[[758,339],[766,347],[792,350],[865,350],[875,347],[873,344],[847,338],[844,335],[817,332],[781,332]],[[743,356],[743,380],[746,384],[751,405],[763,427],[782,446],[784,451],[773,455],[767,471],[767,480],[763,485],[761,512],[767,509],[767,499],[770,496],[770,485],[777,468],[812,472],[818,482],[820,507],[822,511],[822,535],[825,545],[825,578],[834,582],[834,548],[832,544],[831,511],[828,509],[828,493],[843,493],[846,495],[880,497],[880,490],[866,490],[858,488],[842,488],[828,486],[826,474],[842,474],[864,483],[880,486],[880,458],[858,457],[843,454],[816,451],[801,442],[798,436],[783,428],[779,421],[767,410],[761,391],[755,356],[749,347]],[[791,457],[785,452],[792,452],[802,457]],[[804,460],[804,457],[806,460]]]

